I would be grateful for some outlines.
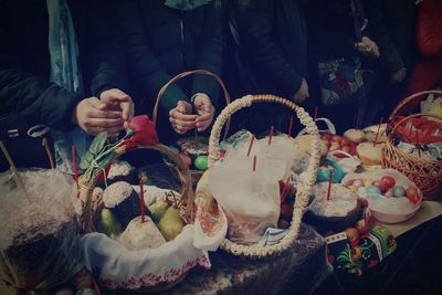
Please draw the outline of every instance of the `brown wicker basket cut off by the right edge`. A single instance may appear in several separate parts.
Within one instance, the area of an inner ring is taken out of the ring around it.
[[[397,124],[391,124],[397,118],[398,114],[403,110],[410,110],[419,105],[422,97],[429,94],[442,94],[441,91],[425,91],[413,94],[404,98],[391,113],[389,117],[390,125],[386,133],[388,140],[382,148],[382,168],[392,168],[407,176],[414,185],[421,189],[425,200],[432,200],[442,194],[442,161],[436,159],[423,159],[410,154],[407,154],[393,144],[393,138],[397,135],[396,129],[404,122],[414,117],[433,117],[442,120],[442,117],[434,115],[413,114],[399,120]]]

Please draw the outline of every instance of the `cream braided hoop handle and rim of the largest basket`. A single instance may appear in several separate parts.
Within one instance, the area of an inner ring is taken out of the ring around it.
[[[274,95],[248,95],[228,105],[218,116],[209,139],[209,167],[213,166],[214,162],[219,159],[219,141],[220,141],[221,129],[224,123],[231,115],[233,115],[238,110],[244,107],[249,107],[252,104],[256,103],[275,103],[291,108],[299,118],[301,123],[307,127],[308,134],[313,135],[314,138],[312,140],[312,156],[307,168],[307,180],[305,183],[299,183],[297,188],[296,202],[293,208],[293,220],[288,229],[288,232],[281,240],[281,242],[274,245],[248,246],[248,245],[236,244],[228,239],[224,239],[224,241],[221,243],[221,249],[234,255],[251,257],[251,259],[263,259],[281,254],[283,251],[291,247],[298,236],[301,220],[303,218],[305,208],[308,203],[311,189],[316,181],[316,175],[320,158],[320,139],[316,124],[314,123],[313,118],[302,107],[298,107],[288,99],[277,97]]]

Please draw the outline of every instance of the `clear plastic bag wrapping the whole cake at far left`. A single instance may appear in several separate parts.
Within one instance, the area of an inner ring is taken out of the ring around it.
[[[81,267],[73,181],[59,170],[20,172],[28,197],[10,172],[0,175],[0,277],[18,288],[48,289]]]

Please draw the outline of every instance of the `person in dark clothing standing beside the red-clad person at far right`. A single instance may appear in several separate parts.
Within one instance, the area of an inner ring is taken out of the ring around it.
[[[378,44],[380,57],[376,65],[373,105],[378,118],[387,118],[403,98],[407,81],[415,59],[415,0],[366,0],[370,20],[369,36]]]

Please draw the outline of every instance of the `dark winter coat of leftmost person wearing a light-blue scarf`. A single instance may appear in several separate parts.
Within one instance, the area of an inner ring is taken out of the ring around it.
[[[49,14],[44,0],[0,2],[0,122],[9,128],[45,124],[73,127],[78,99],[122,85],[123,52],[115,42],[106,6],[99,1],[67,1],[80,51],[85,92],[82,96],[50,83]]]

